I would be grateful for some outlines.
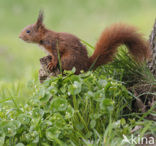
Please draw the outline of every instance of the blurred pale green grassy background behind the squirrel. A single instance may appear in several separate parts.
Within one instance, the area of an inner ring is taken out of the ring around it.
[[[155,7],[155,0],[0,0],[0,81],[30,80],[39,69],[39,58],[45,53],[18,35],[36,21],[40,9],[48,28],[95,45],[102,30],[115,22],[135,25],[148,38]]]

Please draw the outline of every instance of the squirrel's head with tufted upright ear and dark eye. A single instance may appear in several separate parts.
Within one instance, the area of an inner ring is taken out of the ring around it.
[[[45,33],[43,25],[43,12],[40,11],[37,22],[25,27],[19,35],[19,38],[31,43],[38,43]]]

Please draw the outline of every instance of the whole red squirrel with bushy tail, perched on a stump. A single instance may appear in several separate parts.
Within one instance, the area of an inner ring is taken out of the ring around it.
[[[62,70],[76,68],[76,74],[87,71],[94,63],[93,69],[113,60],[117,48],[124,44],[138,62],[147,60],[151,51],[149,43],[137,32],[135,27],[114,24],[106,28],[96,43],[95,51],[88,56],[86,47],[80,39],[70,33],[55,32],[43,24],[43,12],[39,13],[37,22],[25,27],[20,36],[22,40],[42,46],[51,55],[48,68],[53,70],[58,65],[58,51]]]

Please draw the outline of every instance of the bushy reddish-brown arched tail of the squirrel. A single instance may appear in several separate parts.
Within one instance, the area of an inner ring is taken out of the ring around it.
[[[151,54],[149,43],[136,28],[125,24],[114,24],[101,34],[95,51],[90,57],[90,63],[95,62],[94,68],[96,68],[112,61],[117,48],[122,44],[128,47],[130,54],[139,62],[148,59]]]

